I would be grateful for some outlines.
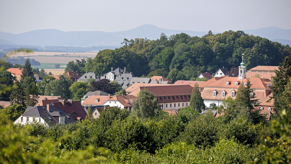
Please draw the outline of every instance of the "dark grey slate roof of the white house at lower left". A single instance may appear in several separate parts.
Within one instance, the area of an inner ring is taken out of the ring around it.
[[[55,107],[54,105],[50,106],[50,111],[46,110],[46,106],[28,106],[21,116],[42,117],[42,119],[44,119],[49,126],[60,125],[58,121],[59,116],[69,117],[65,117],[65,124],[76,123],[76,121],[68,113]]]

